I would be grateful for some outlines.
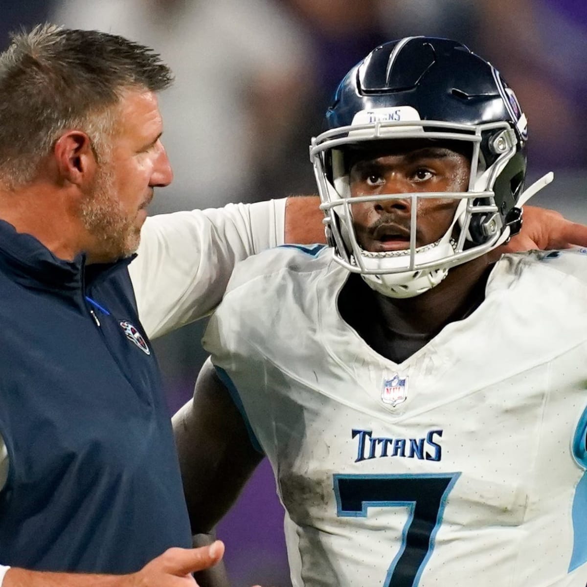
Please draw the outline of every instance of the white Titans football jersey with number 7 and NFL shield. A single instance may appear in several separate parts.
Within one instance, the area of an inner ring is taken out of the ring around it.
[[[502,258],[399,365],[340,317],[347,277],[319,247],[250,258],[204,338],[274,470],[294,586],[585,587],[585,250]]]

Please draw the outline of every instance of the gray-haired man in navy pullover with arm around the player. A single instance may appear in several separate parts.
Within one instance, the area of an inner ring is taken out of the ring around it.
[[[222,556],[188,548],[149,337],[210,312],[235,262],[284,231],[322,240],[322,215],[294,198],[146,221],[172,179],[170,81],[149,48],[96,31],[39,26],[0,55],[3,587],[195,585]],[[584,227],[532,217],[519,247],[587,245]]]

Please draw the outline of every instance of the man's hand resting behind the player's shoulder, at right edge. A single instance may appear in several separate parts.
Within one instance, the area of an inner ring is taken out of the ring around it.
[[[524,206],[522,230],[511,241],[492,251],[492,257],[532,249],[568,249],[587,247],[587,226],[566,220],[554,210]]]

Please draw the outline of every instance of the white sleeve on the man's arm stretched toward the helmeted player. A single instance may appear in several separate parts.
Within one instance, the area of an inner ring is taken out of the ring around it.
[[[129,271],[149,338],[211,312],[235,263],[282,244],[284,224],[285,199],[147,218]]]

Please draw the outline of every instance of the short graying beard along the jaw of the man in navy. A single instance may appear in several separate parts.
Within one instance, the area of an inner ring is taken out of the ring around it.
[[[88,257],[112,262],[128,257],[139,247],[140,227],[129,217],[114,189],[112,165],[104,162],[96,173],[92,190],[80,203],[82,225],[95,245]]]

